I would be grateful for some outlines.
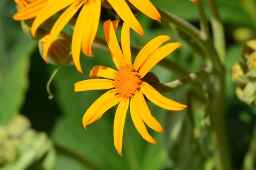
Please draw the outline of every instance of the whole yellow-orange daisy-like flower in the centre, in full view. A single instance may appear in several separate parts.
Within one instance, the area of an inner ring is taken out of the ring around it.
[[[139,134],[151,143],[157,142],[149,135],[144,123],[157,132],[163,132],[163,129],[159,122],[151,115],[144,95],[149,101],[166,110],[182,110],[187,106],[162,96],[151,85],[143,81],[143,77],[151,68],[180,47],[181,44],[173,42],[160,47],[170,37],[167,35],[158,36],[139,51],[134,65],[132,65],[130,27],[126,22],[123,23],[121,50],[116,37],[117,23],[117,20],[113,22],[107,20],[104,23],[104,34],[118,71],[104,66],[95,66],[90,72],[90,77],[96,79],[76,83],[75,91],[110,89],[89,107],[83,116],[82,123],[86,129],[87,125],[100,119],[108,109],[119,103],[114,120],[114,145],[118,153],[122,155],[123,127],[129,102],[130,113],[135,127]],[[99,77],[106,79],[98,79]]]

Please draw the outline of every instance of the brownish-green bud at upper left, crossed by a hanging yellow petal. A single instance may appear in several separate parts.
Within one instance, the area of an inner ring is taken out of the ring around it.
[[[39,51],[43,57],[44,45],[49,38],[49,34],[44,35],[38,42]],[[72,61],[71,55],[71,36],[65,33],[60,33],[52,42],[47,52],[47,62],[50,64],[68,65]]]

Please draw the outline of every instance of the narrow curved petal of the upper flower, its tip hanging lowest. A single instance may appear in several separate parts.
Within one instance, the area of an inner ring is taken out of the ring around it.
[[[85,29],[85,21],[86,21],[86,11],[88,10],[88,5],[83,5],[82,10],[79,13],[74,32],[72,37],[72,45],[71,45],[71,51],[72,51],[72,57],[74,64],[79,72],[82,73],[82,68],[80,65],[80,51],[81,51],[81,44],[82,44],[82,38],[84,34]]]

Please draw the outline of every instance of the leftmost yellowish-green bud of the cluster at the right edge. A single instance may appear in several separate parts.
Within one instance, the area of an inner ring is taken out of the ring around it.
[[[248,83],[246,77],[247,67],[244,63],[236,63],[230,71],[231,79],[239,86],[244,86]]]

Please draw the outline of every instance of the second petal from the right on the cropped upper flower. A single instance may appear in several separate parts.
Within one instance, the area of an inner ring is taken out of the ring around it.
[[[138,20],[133,15],[125,0],[108,0],[108,2],[124,22],[126,22],[138,34],[144,35],[141,25],[138,23]]]

